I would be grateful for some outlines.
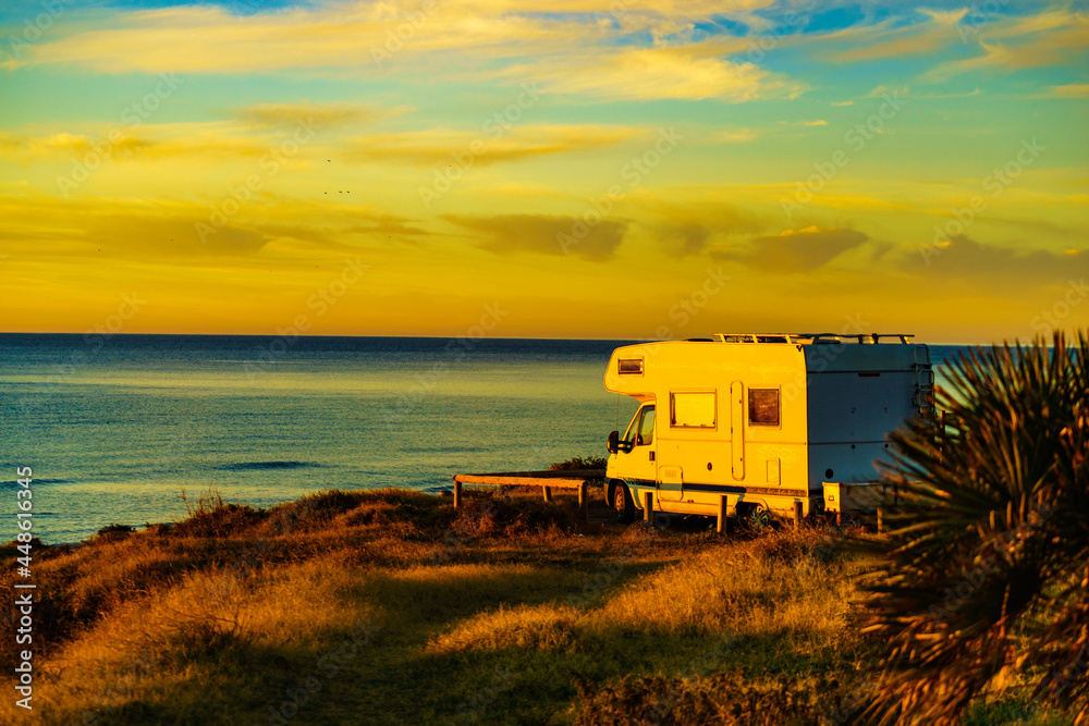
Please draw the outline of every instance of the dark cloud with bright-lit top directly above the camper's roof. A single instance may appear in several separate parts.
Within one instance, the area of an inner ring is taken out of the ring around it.
[[[768,272],[808,272],[869,241],[855,230],[786,230],[754,237],[746,249],[721,249],[719,257]]]

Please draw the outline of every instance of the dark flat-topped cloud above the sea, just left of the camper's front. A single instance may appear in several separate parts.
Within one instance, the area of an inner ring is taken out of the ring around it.
[[[591,226],[578,217],[552,214],[448,216],[444,219],[477,233],[478,246],[497,255],[518,251],[576,255],[591,261],[611,258],[627,230],[624,221],[602,220]]]

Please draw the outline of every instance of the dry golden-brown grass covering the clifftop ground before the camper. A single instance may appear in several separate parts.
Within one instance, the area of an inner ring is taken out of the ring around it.
[[[665,704],[659,723],[730,723],[715,693],[739,680],[762,709],[795,693],[795,715],[815,689],[849,696],[869,647],[847,626],[855,564],[824,533],[722,540],[588,527],[567,497],[467,499],[461,512],[397,490],[268,512],[206,500],[174,527],[49,547],[37,713],[589,724]],[[0,701],[0,721],[20,716]]]

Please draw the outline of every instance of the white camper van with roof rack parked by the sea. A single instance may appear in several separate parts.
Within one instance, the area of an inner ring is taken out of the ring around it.
[[[609,502],[624,521],[656,510],[764,524],[771,512],[839,508],[871,482],[886,434],[932,413],[930,349],[910,335],[719,334],[613,352],[605,389],[636,398],[609,438]],[[828,485],[825,485],[828,484]],[[848,489],[844,487],[845,491]]]

